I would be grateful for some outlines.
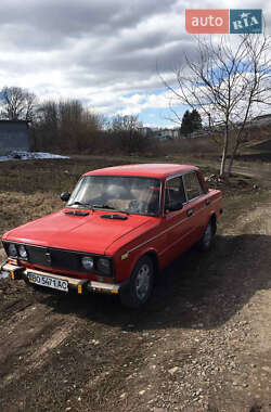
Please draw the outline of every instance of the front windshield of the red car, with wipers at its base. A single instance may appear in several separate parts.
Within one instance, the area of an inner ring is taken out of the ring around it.
[[[149,216],[157,216],[159,205],[160,180],[122,176],[85,176],[67,203],[67,207]]]

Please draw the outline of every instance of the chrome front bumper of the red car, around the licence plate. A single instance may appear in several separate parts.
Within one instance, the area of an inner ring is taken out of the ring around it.
[[[0,266],[0,273],[3,272],[8,274],[12,280],[20,280],[23,279],[26,282],[29,282],[28,273],[34,273],[37,275],[55,279],[55,280],[62,280],[68,282],[68,292],[69,291],[77,291],[78,294],[88,294],[90,292],[98,292],[98,293],[105,293],[105,294],[118,294],[121,284],[115,284],[115,283],[103,283],[103,282],[96,282],[96,281],[89,281],[86,279],[75,279],[66,275],[60,275],[56,273],[49,273],[41,270],[36,269],[26,269],[25,267],[17,266],[15,262],[3,262]],[[46,285],[42,285],[43,287],[49,287]],[[42,287],[41,286],[41,287]],[[49,287],[50,288],[50,287]]]

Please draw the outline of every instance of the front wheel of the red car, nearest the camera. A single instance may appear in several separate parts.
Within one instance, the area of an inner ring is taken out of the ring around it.
[[[140,308],[150,298],[154,286],[154,265],[149,256],[139,259],[126,287],[120,289],[121,304],[129,308]]]

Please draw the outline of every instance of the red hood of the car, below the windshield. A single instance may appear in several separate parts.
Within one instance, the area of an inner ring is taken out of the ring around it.
[[[7,232],[2,240],[104,255],[112,243],[151,219],[140,215],[129,215],[126,220],[104,219],[102,216],[112,213],[101,210],[90,210],[88,216],[70,216],[65,211],[20,226]]]

